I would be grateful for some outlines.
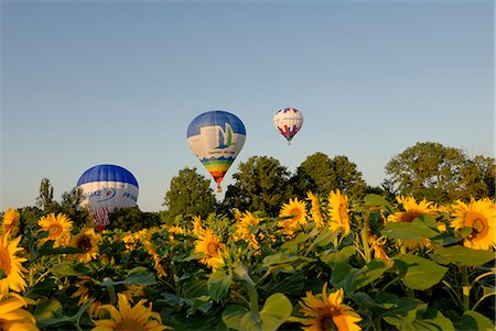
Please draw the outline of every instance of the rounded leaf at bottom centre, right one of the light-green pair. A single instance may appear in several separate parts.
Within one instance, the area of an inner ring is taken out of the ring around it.
[[[276,331],[291,316],[293,306],[291,301],[280,293],[267,298],[260,311],[261,327],[263,331]]]

